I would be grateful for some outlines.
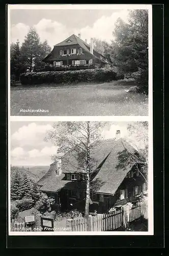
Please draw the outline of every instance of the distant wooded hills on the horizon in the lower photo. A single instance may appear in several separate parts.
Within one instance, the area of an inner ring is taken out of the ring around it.
[[[21,173],[26,173],[27,177],[37,182],[48,171],[49,166],[11,166],[11,175],[18,170]]]

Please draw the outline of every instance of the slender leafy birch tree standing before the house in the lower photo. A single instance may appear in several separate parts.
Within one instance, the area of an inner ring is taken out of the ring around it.
[[[96,166],[94,159],[91,156],[91,150],[101,142],[101,127],[104,122],[59,122],[53,124],[53,130],[48,131],[45,140],[50,140],[54,145],[59,147],[58,152],[64,154],[65,161],[74,168],[78,175],[79,170],[83,170],[86,174],[86,203],[85,216],[89,216],[90,202],[90,173]],[[76,165],[70,155],[76,159]],[[67,158],[65,158],[67,154]],[[53,156],[53,160],[57,159],[58,155]]]

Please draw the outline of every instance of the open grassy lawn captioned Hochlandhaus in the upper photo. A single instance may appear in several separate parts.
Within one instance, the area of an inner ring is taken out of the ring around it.
[[[29,116],[125,116],[148,115],[148,97],[127,93],[133,81],[99,84],[17,86],[11,88],[11,115]],[[20,112],[20,110],[48,112]]]

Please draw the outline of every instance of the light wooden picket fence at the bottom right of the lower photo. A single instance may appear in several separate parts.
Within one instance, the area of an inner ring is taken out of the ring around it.
[[[126,227],[130,222],[144,217],[148,219],[147,202],[139,202],[127,209],[115,209],[107,214],[89,216],[89,218],[69,219],[70,231],[114,231]]]

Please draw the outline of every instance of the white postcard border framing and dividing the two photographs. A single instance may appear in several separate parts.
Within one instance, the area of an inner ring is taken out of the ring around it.
[[[15,232],[11,230],[10,210],[8,216],[9,236],[91,236],[115,235],[115,236],[144,236],[154,234],[153,221],[153,81],[152,81],[152,5],[8,5],[8,46],[10,46],[10,10],[16,9],[148,9],[149,10],[149,116],[10,116],[10,47],[8,47],[8,198],[10,209],[10,165],[11,165],[11,121],[148,121],[149,122],[149,171],[148,171],[148,231],[51,231],[51,232]],[[151,181],[151,182],[150,182]]]

